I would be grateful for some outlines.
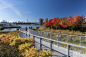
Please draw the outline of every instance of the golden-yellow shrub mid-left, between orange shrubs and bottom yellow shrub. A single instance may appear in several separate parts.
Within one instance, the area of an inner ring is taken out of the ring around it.
[[[32,38],[16,38],[16,37],[13,37],[10,39],[10,45],[11,46],[15,46],[18,48],[19,45],[21,44],[25,44],[25,43],[31,43],[32,44],[33,42],[33,39]]]

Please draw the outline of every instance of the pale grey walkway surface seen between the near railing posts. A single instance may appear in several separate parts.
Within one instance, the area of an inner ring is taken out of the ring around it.
[[[40,39],[38,39],[37,37],[35,37],[35,47],[40,47]],[[57,45],[53,45],[53,44],[52,44],[52,48],[54,54],[54,56],[52,57],[67,57],[68,50],[66,48],[58,47]],[[42,40],[42,49],[45,50],[50,49],[50,43]],[[80,52],[76,52],[73,50],[70,50],[69,52],[70,52],[70,57],[86,57],[85,54],[80,54]]]

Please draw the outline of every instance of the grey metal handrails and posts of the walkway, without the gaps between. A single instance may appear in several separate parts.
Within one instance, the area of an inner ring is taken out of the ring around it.
[[[47,39],[47,40],[50,40],[50,50],[52,50],[52,41],[58,42],[58,46],[59,46],[59,43],[66,44],[67,47],[68,47],[68,56],[69,56],[69,48],[70,48],[69,46],[70,46],[70,45],[71,45],[71,46],[75,46],[75,47],[79,47],[79,48],[80,48],[80,53],[81,53],[81,48],[86,48],[85,46],[81,46],[81,37],[86,37],[86,36],[77,36],[77,35],[50,33],[50,32],[35,31],[35,30],[29,30],[29,31],[30,31],[30,33],[27,33],[27,32],[26,32],[26,35],[28,34],[28,35],[32,35],[32,36],[34,36],[34,37],[39,37],[39,38],[40,38],[40,49],[42,48],[42,47],[41,47],[41,40],[42,40],[43,38],[44,38],[44,39]],[[24,33],[25,31],[19,30],[19,33],[20,33],[20,32]],[[34,32],[34,33],[33,33],[33,32]],[[40,32],[40,36],[39,36],[39,32]],[[44,32],[45,36],[42,36],[42,32]],[[47,37],[46,37],[46,36],[47,36],[46,33],[49,33],[49,34],[50,34],[50,38],[47,38]],[[52,39],[52,34],[57,34],[57,36],[58,36],[57,40]],[[21,34],[19,34],[19,35],[21,35]],[[67,36],[67,38],[66,38],[66,39],[67,39],[67,42],[59,41],[59,35],[66,35],[66,36]],[[22,36],[22,35],[21,35],[21,36]],[[80,45],[76,45],[76,44],[71,44],[71,43],[69,43],[69,42],[68,42],[68,36],[76,36],[76,37],[79,37],[79,40],[80,40],[79,44],[80,44]]]

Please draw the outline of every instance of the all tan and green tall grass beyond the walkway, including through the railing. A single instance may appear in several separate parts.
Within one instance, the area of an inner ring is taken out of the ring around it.
[[[54,29],[49,29],[49,28],[46,28],[46,27],[40,27],[39,30],[40,31],[44,31],[44,32],[86,36],[86,32],[80,32],[80,31],[69,31],[69,30],[60,30],[60,29],[59,30],[54,30]],[[48,35],[47,38],[50,38],[50,36]],[[52,35],[52,39],[57,40],[58,36]],[[67,42],[67,37],[64,36],[64,35],[59,36],[59,41]],[[50,42],[50,41],[47,40],[47,42]],[[76,37],[76,36],[69,36],[68,37],[68,43],[80,45],[80,38]],[[53,44],[57,45],[58,42],[53,42]],[[59,43],[59,46],[67,48],[67,45],[66,44],[62,44],[62,43]],[[86,46],[86,37],[82,37],[81,38],[81,46]],[[74,50],[74,51],[77,51],[77,52],[80,52],[80,48],[79,47],[70,46],[70,49]],[[81,52],[86,54],[85,50],[86,50],[85,48],[81,48]]]

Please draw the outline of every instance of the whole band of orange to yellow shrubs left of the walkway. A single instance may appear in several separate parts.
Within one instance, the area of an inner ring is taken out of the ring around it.
[[[12,36],[12,35],[0,35],[0,44],[6,43],[6,45],[14,46],[17,47],[20,51],[22,51],[22,55],[24,57],[49,57],[52,55],[52,52],[50,50],[42,50],[38,51],[39,48],[34,48],[32,46],[33,43],[33,38],[18,38],[17,36]]]

